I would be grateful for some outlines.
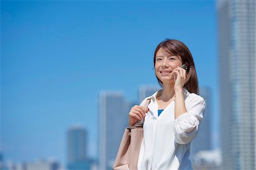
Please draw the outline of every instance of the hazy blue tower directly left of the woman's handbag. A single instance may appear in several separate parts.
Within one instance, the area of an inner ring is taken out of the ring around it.
[[[99,169],[112,169],[115,156],[127,127],[127,104],[122,92],[100,92],[99,100]]]

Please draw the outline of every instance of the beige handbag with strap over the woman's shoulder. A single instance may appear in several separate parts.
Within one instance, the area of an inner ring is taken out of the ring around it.
[[[150,103],[150,99],[147,99],[144,104],[144,109]],[[117,158],[113,165],[113,169],[117,170],[129,170],[137,169],[139,151],[141,149],[141,143],[143,140],[143,121],[138,121],[134,126],[125,128],[122,141],[120,143]]]

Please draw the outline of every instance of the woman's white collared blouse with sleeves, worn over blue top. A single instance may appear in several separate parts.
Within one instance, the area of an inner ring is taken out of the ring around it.
[[[158,117],[156,95],[151,99],[143,124],[143,141],[139,152],[138,169],[192,169],[190,145],[203,120],[205,100],[183,87],[186,113],[174,118],[175,100]]]

